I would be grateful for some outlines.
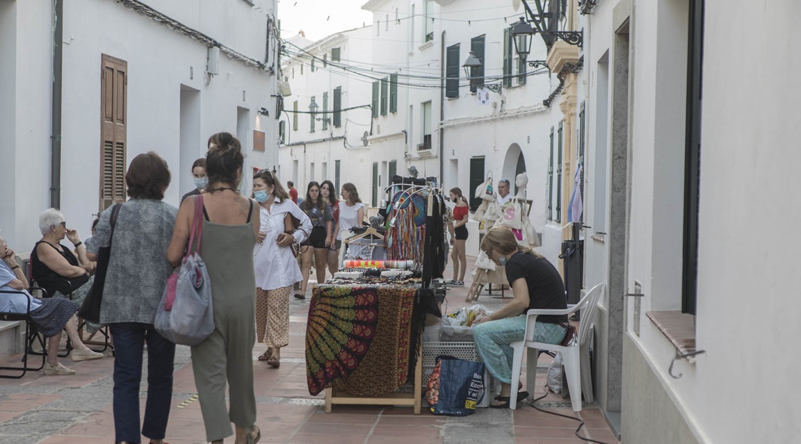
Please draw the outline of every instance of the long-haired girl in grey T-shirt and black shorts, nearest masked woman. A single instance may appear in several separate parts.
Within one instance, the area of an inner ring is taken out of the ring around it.
[[[325,269],[328,266],[328,246],[331,238],[328,234],[332,230],[332,214],[328,203],[320,197],[320,184],[308,182],[306,189],[306,200],[300,206],[301,210],[312,220],[312,233],[308,235],[308,240],[301,243],[305,250],[301,249],[300,272],[303,279],[300,281],[300,293],[295,294],[297,299],[306,298],[306,287],[308,286],[308,274],[312,269],[312,256],[314,256],[314,266],[317,274],[317,283],[325,282]]]

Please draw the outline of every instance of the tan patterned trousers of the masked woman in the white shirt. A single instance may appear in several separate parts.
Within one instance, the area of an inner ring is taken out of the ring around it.
[[[289,294],[292,286],[256,288],[256,341],[268,347],[289,345]]]

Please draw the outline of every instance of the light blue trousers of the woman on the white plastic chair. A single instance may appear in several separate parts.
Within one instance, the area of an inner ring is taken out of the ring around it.
[[[533,340],[558,344],[565,338],[566,328],[558,324],[537,322]],[[504,384],[512,383],[512,360],[514,350],[509,344],[522,341],[525,334],[525,314],[514,318],[484,322],[473,329],[473,340],[481,361],[489,374]]]

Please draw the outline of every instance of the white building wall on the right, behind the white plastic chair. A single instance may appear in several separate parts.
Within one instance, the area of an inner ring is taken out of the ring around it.
[[[597,3],[579,95],[585,282],[607,284],[598,402],[622,442],[797,441],[799,358],[782,350],[801,327],[781,314],[801,310],[798,242],[760,227],[801,219],[799,5]]]

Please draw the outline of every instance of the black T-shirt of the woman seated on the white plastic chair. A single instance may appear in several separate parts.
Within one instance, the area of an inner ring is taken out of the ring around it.
[[[529,308],[546,310],[564,310],[567,308],[565,284],[556,267],[546,258],[537,258],[533,254],[515,253],[506,262],[506,278],[509,286],[517,279],[525,279],[529,286]],[[567,322],[567,315],[554,316],[542,314],[537,322],[556,324]]]

